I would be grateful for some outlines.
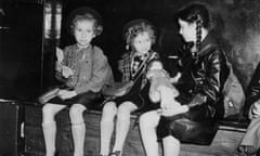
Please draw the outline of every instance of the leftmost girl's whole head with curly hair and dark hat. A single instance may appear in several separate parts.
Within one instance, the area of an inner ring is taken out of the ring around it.
[[[68,27],[79,46],[89,44],[103,31],[100,14],[90,8],[79,8],[73,11],[68,17]]]

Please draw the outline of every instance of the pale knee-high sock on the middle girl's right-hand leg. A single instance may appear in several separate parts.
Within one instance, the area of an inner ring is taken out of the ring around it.
[[[127,114],[126,114],[127,116]],[[116,123],[116,140],[115,145],[113,147],[113,152],[122,151],[125,140],[127,138],[128,131],[130,127],[130,114],[128,117],[123,119],[118,119]]]

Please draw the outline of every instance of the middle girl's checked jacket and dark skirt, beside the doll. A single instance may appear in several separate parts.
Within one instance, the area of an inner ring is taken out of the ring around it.
[[[117,106],[129,101],[138,107],[136,112],[147,112],[158,108],[158,105],[153,104],[148,98],[150,82],[146,79],[146,67],[153,58],[158,58],[158,54],[151,52],[151,55],[146,58],[142,61],[136,53],[126,53],[122,55],[122,58],[118,63],[118,68],[122,74],[121,81],[133,80],[134,84],[127,94],[113,100]],[[135,69],[133,69],[134,63],[139,64]],[[133,73],[134,75],[132,75]]]

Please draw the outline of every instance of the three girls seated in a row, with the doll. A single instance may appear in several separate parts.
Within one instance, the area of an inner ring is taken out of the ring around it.
[[[153,50],[156,35],[151,22],[134,20],[125,26],[127,52],[119,61],[119,70],[121,82],[131,83],[128,90],[119,90],[102,105],[100,155],[122,155],[133,112],[141,113],[141,138],[147,156],[159,155],[157,140],[162,142],[165,156],[178,156],[180,142],[209,144],[212,141],[217,121],[224,115],[222,89],[229,76],[226,57],[211,35],[213,25],[204,4],[181,9],[178,23],[179,34],[186,43],[179,57],[180,75],[176,77],[164,69],[159,54]],[[57,95],[42,108],[46,156],[56,154],[54,116],[65,107],[69,107],[74,156],[83,156],[82,114],[96,107],[95,101],[102,96],[103,89],[114,86],[107,57],[91,44],[103,30],[99,13],[90,8],[77,9],[68,17],[68,25],[76,43],[56,51],[56,70],[66,79],[65,86],[57,88]],[[115,144],[109,151],[114,127]]]

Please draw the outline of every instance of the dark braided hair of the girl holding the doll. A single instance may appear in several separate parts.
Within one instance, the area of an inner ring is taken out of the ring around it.
[[[202,28],[210,30],[212,28],[211,16],[205,4],[191,3],[182,8],[178,13],[178,18],[190,24],[196,23],[196,48],[200,50]]]

